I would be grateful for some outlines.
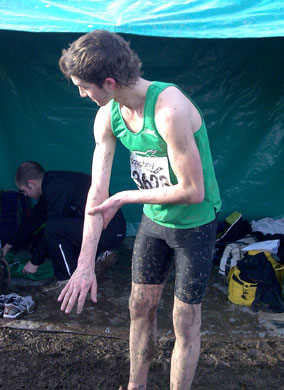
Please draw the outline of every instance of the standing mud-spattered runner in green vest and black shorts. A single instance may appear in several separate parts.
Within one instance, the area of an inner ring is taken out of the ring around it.
[[[83,243],[78,267],[58,298],[61,310],[70,313],[78,300],[80,313],[89,290],[97,301],[93,254],[101,231],[124,204],[144,203],[132,257],[128,389],[146,389],[156,310],[175,258],[170,388],[188,390],[199,358],[201,302],[221,206],[202,114],[177,86],[141,78],[137,55],[122,37],[104,30],[63,50],[60,68],[81,97],[101,106],[94,123]],[[139,190],[108,197],[116,138],[131,152],[131,175]]]

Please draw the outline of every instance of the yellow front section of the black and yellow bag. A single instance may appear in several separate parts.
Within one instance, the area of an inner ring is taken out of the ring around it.
[[[251,306],[255,300],[257,283],[244,282],[240,278],[240,270],[237,266],[230,269],[228,275],[229,291],[228,299],[236,305]]]

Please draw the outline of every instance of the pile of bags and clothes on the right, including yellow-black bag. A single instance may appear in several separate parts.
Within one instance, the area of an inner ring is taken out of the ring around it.
[[[230,302],[284,312],[284,218],[249,224],[234,212],[221,224],[216,247]]]

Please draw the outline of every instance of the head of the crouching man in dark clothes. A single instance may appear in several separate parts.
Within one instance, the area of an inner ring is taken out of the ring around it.
[[[15,183],[26,196],[39,199],[44,172],[43,167],[37,162],[24,161],[17,169]]]

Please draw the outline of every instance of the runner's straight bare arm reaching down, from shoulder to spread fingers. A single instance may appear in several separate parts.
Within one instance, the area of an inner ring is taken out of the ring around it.
[[[103,218],[101,213],[89,215],[88,211],[108,197],[116,143],[111,132],[108,106],[102,107],[96,116],[94,136],[96,147],[92,164],[92,184],[86,204],[81,252],[77,269],[58,298],[62,301],[61,310],[67,314],[71,312],[77,300],[77,313],[81,313],[89,290],[91,290],[92,301],[97,301],[97,281],[94,268],[97,246],[103,229]]]

